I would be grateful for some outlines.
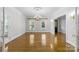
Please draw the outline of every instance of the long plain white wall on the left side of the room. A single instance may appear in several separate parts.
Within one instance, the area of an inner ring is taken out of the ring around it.
[[[5,15],[8,19],[8,37],[5,43],[8,43],[16,37],[25,33],[25,17],[16,8],[5,8]]]

